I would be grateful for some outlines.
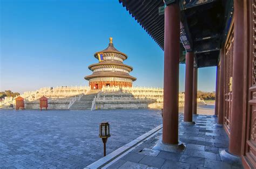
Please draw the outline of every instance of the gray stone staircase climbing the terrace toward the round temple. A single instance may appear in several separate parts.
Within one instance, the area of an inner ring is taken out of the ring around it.
[[[100,90],[89,90],[83,95],[80,100],[75,101],[70,107],[70,110],[91,110],[92,101]]]

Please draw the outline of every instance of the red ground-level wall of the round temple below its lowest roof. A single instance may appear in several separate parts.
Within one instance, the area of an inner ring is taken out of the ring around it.
[[[98,84],[98,89],[102,89],[103,86],[106,86],[107,84],[112,86],[120,86],[120,87],[132,87],[132,82],[119,82],[119,81],[96,81],[96,82],[89,82],[89,86],[91,86],[91,89],[94,89],[96,87],[96,84]]]

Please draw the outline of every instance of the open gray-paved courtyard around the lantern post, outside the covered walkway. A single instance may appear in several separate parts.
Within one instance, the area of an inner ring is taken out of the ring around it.
[[[159,110],[0,110],[0,168],[83,168],[161,124]]]

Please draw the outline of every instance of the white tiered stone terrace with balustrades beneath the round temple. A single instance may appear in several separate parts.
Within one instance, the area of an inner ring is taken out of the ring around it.
[[[38,98],[46,96],[49,98],[48,109],[68,109],[69,104],[75,96],[86,94],[89,87],[45,87],[36,91],[26,91],[26,109],[39,109]],[[163,108],[163,88],[149,87],[103,87],[95,98],[93,109],[117,109],[117,108]],[[184,93],[179,93],[179,107],[184,106]],[[198,102],[204,103],[198,98]],[[12,97],[6,97],[0,102],[0,107],[8,108],[10,103],[14,104]]]

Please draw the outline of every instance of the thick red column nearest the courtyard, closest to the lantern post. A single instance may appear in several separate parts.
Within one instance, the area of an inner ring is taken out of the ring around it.
[[[179,37],[180,9],[178,3],[165,8],[164,27],[164,115],[163,143],[178,143],[179,115]]]

